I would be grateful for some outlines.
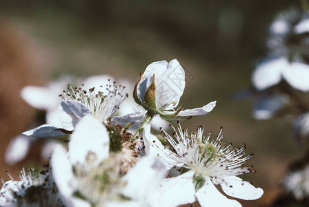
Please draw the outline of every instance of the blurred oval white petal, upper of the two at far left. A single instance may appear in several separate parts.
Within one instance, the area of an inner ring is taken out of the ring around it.
[[[48,87],[26,86],[21,89],[21,97],[33,108],[48,110],[60,103],[59,97]]]

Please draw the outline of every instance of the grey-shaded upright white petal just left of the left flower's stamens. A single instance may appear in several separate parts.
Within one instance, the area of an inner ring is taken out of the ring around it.
[[[91,114],[90,110],[77,101],[62,101],[59,108],[59,121],[66,130],[73,130],[79,119]]]

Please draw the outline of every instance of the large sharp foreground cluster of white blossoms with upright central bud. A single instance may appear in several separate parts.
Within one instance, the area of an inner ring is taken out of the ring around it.
[[[127,97],[124,86],[110,80],[99,87],[69,84],[60,95],[59,124],[23,132],[54,141],[51,167],[23,169],[21,181],[3,182],[1,206],[241,206],[226,195],[259,199],[263,190],[237,177],[254,172],[244,166],[252,157],[246,146],[225,146],[222,128],[215,140],[202,126],[197,132],[181,128],[180,121],[206,115],[216,104],[177,108],[184,77],[176,59],[151,63],[131,91],[141,109],[125,115],[117,115]],[[177,122],[173,137],[163,128],[160,140],[152,134],[160,119]]]

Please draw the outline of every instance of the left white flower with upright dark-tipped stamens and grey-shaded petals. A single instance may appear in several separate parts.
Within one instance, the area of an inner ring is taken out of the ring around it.
[[[126,98],[122,95],[124,86],[117,86],[114,82],[109,83],[106,88],[99,86],[106,93],[96,88],[83,89],[72,88],[70,84],[67,90],[60,95],[63,99],[59,107],[59,122],[61,127],[43,124],[32,130],[23,132],[23,135],[29,137],[61,137],[66,136],[74,130],[79,120],[85,115],[91,114],[99,121],[107,121],[119,108],[120,103]]]

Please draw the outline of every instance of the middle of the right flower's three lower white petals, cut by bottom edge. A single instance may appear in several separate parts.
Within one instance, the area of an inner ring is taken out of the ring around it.
[[[212,184],[210,179],[207,177],[205,184],[201,189],[197,190],[195,194],[201,207],[217,207],[217,206],[228,206],[228,207],[241,207],[238,201],[228,199],[222,195],[219,190]]]

